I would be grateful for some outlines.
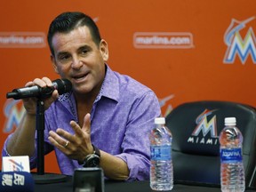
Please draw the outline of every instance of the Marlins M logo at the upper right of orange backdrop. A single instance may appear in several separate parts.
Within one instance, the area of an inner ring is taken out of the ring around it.
[[[224,63],[233,64],[237,58],[245,64],[246,60],[251,58],[252,62],[256,64],[256,38],[252,20],[255,20],[255,17],[243,21],[231,20],[224,35],[224,42],[228,46]]]

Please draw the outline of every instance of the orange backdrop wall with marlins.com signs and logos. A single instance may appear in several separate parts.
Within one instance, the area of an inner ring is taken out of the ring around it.
[[[256,106],[255,5],[254,0],[3,0],[0,147],[24,112],[6,93],[36,77],[59,77],[46,33],[60,12],[91,15],[108,42],[109,66],[153,89],[166,114],[192,100]],[[45,172],[60,172],[54,154],[45,157]]]

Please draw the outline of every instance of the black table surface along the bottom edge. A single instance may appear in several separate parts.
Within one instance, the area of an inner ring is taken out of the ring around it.
[[[72,192],[73,183],[72,178],[69,177],[67,181],[52,184],[36,184],[35,192]],[[106,181],[105,192],[152,192],[149,187],[149,181]],[[220,187],[203,187],[195,185],[175,184],[172,188],[173,192],[220,192]],[[247,189],[246,192],[256,191],[254,189]]]

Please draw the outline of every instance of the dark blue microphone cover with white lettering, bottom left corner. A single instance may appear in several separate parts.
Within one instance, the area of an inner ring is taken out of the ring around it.
[[[34,192],[35,182],[30,172],[0,172],[0,191]]]

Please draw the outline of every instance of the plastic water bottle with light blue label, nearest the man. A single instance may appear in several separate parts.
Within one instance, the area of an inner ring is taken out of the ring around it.
[[[165,118],[155,119],[150,132],[150,188],[163,191],[173,188],[172,133],[164,125]]]

